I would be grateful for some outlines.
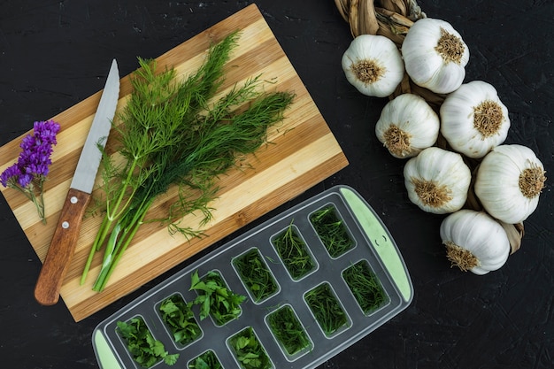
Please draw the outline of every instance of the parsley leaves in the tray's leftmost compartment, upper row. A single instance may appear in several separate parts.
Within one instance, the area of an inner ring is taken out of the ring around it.
[[[160,360],[164,360],[166,365],[177,362],[179,354],[168,354],[164,343],[154,339],[141,317],[135,317],[128,322],[118,321],[117,325],[117,331],[127,342],[127,350],[138,365],[150,368]]]

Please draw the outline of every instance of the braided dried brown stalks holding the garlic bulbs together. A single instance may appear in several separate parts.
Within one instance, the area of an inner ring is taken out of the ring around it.
[[[404,38],[413,23],[418,19],[427,17],[421,11],[417,0],[335,0],[335,5],[341,13],[342,19],[349,23],[352,37],[358,35],[383,35],[395,42],[398,48],[402,46],[402,42],[404,42]],[[393,99],[398,95],[407,93],[423,97],[427,101],[427,104],[435,109],[437,113],[445,97],[445,95],[435,94],[427,88],[416,85],[408,74],[404,73],[404,80],[389,98]],[[439,135],[436,145],[448,150],[448,144],[442,135]],[[464,155],[462,157],[474,173],[477,170],[479,162],[466,158]],[[473,192],[473,182],[468,193],[466,208],[477,211],[482,210],[481,204]],[[508,234],[512,253],[519,250],[521,239],[525,234],[523,223],[500,223]]]

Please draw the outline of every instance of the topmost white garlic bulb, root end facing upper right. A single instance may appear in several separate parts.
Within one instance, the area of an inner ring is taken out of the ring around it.
[[[466,77],[466,42],[444,20],[417,20],[404,38],[402,55],[412,81],[437,94],[454,91]]]

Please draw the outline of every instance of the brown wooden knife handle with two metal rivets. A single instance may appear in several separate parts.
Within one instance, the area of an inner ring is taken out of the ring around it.
[[[90,194],[86,192],[74,188],[67,192],[50,249],[36,281],[35,299],[39,304],[58,303],[59,290],[73,258],[82,218],[89,202]]]

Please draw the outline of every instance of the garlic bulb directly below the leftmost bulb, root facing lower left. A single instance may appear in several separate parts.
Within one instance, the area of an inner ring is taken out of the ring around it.
[[[403,94],[385,105],[375,134],[395,158],[412,158],[436,142],[439,127],[438,115],[423,97]]]

